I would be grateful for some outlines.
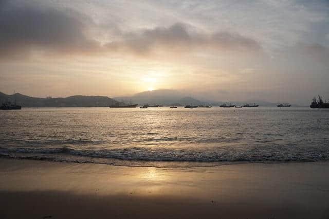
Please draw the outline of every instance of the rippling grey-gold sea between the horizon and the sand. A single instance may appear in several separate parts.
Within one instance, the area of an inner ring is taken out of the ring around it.
[[[329,110],[77,107],[0,111],[0,156],[154,167],[329,161]]]

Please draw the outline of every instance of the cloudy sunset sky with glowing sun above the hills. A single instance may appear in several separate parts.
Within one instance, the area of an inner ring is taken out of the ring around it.
[[[329,99],[329,1],[0,0],[0,91]]]

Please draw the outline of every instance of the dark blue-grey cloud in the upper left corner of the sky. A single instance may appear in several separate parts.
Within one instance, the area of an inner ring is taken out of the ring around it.
[[[59,52],[94,52],[100,47],[88,39],[92,21],[69,9],[38,9],[3,4],[0,9],[1,55],[31,48]]]

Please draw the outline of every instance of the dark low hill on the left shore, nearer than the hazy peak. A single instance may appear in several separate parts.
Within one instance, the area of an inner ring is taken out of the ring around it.
[[[13,95],[7,95],[0,92],[0,102],[16,101],[16,104],[23,107],[97,107],[97,106],[109,106],[117,103],[116,100],[103,96],[70,96],[65,98],[38,98],[29,97],[16,93]]]

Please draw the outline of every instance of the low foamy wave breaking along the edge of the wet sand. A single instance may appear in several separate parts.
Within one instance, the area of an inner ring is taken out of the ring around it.
[[[329,150],[197,150],[122,148],[76,150],[62,148],[0,148],[0,156],[62,162],[104,163],[117,166],[198,167],[236,162],[329,161]],[[162,162],[162,163],[161,163]],[[167,163],[166,163],[167,162]],[[169,163],[168,163],[169,162]],[[170,163],[172,162],[172,163]]]

